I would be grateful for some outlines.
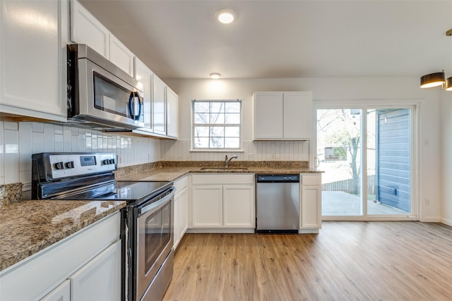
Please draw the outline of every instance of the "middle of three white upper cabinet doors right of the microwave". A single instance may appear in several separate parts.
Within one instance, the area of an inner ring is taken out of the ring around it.
[[[153,129],[154,133],[166,135],[165,82],[153,75]]]

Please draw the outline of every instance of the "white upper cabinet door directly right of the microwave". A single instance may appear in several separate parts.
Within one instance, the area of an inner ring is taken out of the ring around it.
[[[142,61],[135,57],[135,78],[143,85],[144,100],[143,100],[143,116],[144,128],[149,132],[153,131],[153,72]]]

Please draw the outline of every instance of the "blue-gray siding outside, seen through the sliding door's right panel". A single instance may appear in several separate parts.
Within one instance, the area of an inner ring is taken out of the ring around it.
[[[410,110],[376,115],[376,199],[410,212]]]

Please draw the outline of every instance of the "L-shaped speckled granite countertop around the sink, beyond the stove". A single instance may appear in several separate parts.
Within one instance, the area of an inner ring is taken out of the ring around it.
[[[177,180],[187,173],[321,173],[309,168],[307,161],[231,161],[224,168],[224,161],[160,161],[119,168],[117,180],[167,181]]]

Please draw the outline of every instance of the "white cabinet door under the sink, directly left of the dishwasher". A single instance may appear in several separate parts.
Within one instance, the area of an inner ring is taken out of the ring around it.
[[[254,228],[254,185],[223,186],[223,226]]]

